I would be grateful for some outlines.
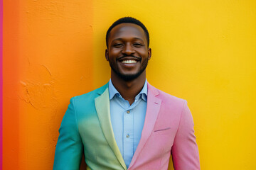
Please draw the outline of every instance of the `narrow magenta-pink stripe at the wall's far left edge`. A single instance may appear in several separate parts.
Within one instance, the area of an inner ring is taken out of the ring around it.
[[[0,0],[0,169],[3,167],[3,1]]]

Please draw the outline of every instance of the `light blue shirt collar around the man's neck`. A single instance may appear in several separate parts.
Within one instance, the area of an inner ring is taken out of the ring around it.
[[[110,81],[109,81],[109,91],[110,91],[110,100],[111,100],[115,95],[120,96],[120,97],[122,98],[121,94],[119,94],[119,92],[117,91],[117,89],[115,89],[114,85],[112,84],[111,79],[110,79]],[[137,96],[135,97],[135,99],[137,99],[139,96],[141,96],[142,99],[143,99],[144,101],[146,101],[146,99],[147,99],[147,81],[145,81],[144,86],[143,86],[143,88],[142,88],[142,91],[140,91],[139,94],[137,94]]]

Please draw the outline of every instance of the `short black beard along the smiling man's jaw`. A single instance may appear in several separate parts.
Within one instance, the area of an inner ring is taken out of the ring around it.
[[[122,73],[119,72],[119,70],[116,67],[114,67],[112,65],[111,62],[110,62],[110,67],[114,71],[114,73],[117,74],[117,76],[120,79],[123,79],[124,81],[132,81],[134,79],[137,79],[137,77],[139,77],[142,74],[142,72],[144,72],[144,70],[146,69],[147,64],[148,64],[148,60],[145,60],[142,63],[142,67],[141,67],[141,69],[139,69],[139,72],[137,72],[135,74],[122,74]]]

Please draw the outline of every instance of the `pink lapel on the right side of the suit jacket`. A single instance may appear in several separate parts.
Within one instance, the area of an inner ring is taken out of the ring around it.
[[[146,105],[146,117],[144,122],[144,127],[142,130],[142,137],[139,141],[139,145],[132,157],[132,162],[129,164],[129,169],[132,169],[132,166],[136,162],[136,159],[139,157],[140,152],[144,148],[146,141],[148,140],[151,132],[154,129],[154,125],[156,123],[157,115],[160,111],[161,99],[156,98],[159,95],[159,91],[148,84],[148,95],[147,95],[147,105]]]

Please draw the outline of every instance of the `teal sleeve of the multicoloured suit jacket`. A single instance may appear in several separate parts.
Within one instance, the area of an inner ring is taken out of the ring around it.
[[[70,99],[59,129],[53,170],[79,170],[82,158],[82,140],[78,132],[75,100]]]

